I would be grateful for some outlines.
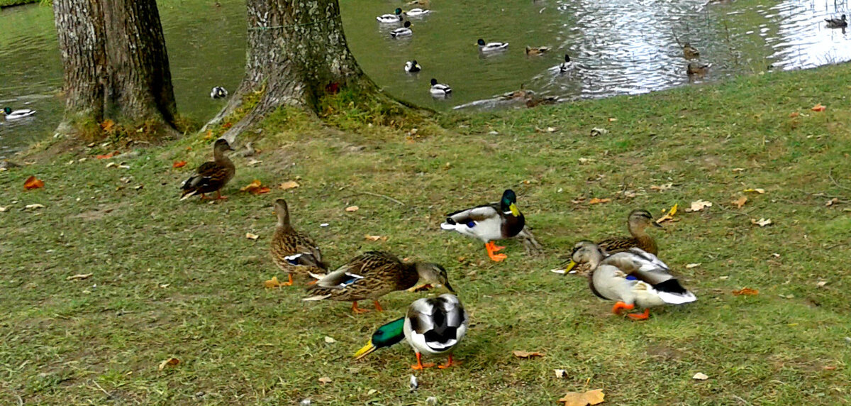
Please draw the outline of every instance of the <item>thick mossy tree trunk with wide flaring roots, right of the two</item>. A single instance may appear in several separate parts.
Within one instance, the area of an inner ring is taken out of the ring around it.
[[[208,124],[234,112],[243,95],[259,89],[263,93],[256,106],[223,134],[226,140],[232,143],[237,134],[279,106],[316,112],[323,94],[338,89],[380,93],[349,51],[338,0],[247,0],[247,6],[245,77]]]

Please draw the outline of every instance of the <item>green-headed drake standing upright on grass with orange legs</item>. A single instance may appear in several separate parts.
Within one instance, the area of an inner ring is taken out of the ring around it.
[[[514,237],[523,231],[525,225],[526,219],[517,209],[517,195],[511,189],[506,189],[500,203],[483,204],[447,214],[446,222],[440,228],[482,240],[484,248],[488,250],[488,257],[499,262],[508,256],[496,254],[505,247],[496,246],[494,240]]]

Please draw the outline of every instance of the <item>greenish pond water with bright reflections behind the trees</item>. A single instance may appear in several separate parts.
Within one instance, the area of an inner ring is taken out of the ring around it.
[[[349,47],[364,71],[395,96],[438,110],[532,89],[563,99],[638,94],[721,80],[768,69],[799,69],[851,60],[851,36],[825,17],[851,14],[851,0],[431,0],[431,13],[412,18],[414,35],[393,39],[396,26],[378,14],[399,0],[340,0]],[[180,112],[205,120],[225,103],[213,86],[235,89],[243,75],[245,6],[220,0],[162,0],[174,91]],[[485,56],[476,40],[508,42]],[[712,67],[685,74],[677,45],[692,43]],[[527,56],[526,45],[548,46]],[[567,53],[576,69],[553,69]],[[403,71],[406,60],[423,66]],[[0,120],[0,157],[51,134],[62,104],[61,64],[49,6],[0,11],[0,106],[37,110],[31,119]],[[452,86],[448,100],[431,98],[429,80]]]

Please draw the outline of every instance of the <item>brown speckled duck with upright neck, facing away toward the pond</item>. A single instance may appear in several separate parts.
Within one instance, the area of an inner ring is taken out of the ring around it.
[[[271,237],[269,253],[275,265],[281,271],[288,273],[289,281],[281,284],[292,286],[293,274],[307,276],[311,272],[325,272],[328,266],[323,263],[322,251],[317,247],[317,243],[307,234],[295,231],[289,224],[286,200],[275,201],[275,214],[277,214],[277,226],[275,226],[275,234]]]

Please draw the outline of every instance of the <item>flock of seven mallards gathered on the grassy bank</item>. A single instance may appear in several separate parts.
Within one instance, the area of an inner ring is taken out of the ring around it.
[[[236,169],[226,152],[233,151],[226,140],[216,140],[213,161],[203,163],[196,173],[181,185],[181,200],[200,196],[202,199],[223,199],[220,190],[233,178]],[[207,197],[209,193],[216,197]],[[415,300],[408,312],[380,326],[355,353],[357,359],[375,350],[392,346],[405,339],[414,349],[417,363],[413,369],[432,366],[422,362],[422,355],[446,354],[447,363],[454,365],[452,352],[464,338],[468,315],[455,289],[449,283],[448,272],[432,262],[400,260],[386,251],[367,251],[332,268],[323,258],[316,240],[296,230],[290,218],[287,202],[279,198],[274,203],[277,223],[271,237],[269,254],[275,265],[288,275],[281,286],[292,286],[295,277],[310,280],[308,295],[302,300],[335,300],[351,302],[351,312],[369,312],[357,306],[361,300],[372,300],[375,309],[383,311],[379,299],[391,292],[419,291],[443,286],[449,293],[434,298]],[[627,218],[630,237],[607,238],[597,243],[583,240],[574,245],[565,272],[574,268],[588,275],[591,293],[605,300],[614,300],[612,312],[633,320],[649,317],[649,308],[663,305],[682,305],[697,297],[671,274],[656,254],[659,249],[646,229],[660,227],[653,216],[643,209],[633,210]],[[446,215],[440,228],[475,238],[484,243],[488,257],[495,262],[505,260],[499,254],[505,247],[494,242],[519,237],[526,227],[526,218],[517,207],[517,194],[505,190],[499,202],[461,209]],[[643,312],[631,312],[636,307]]]

